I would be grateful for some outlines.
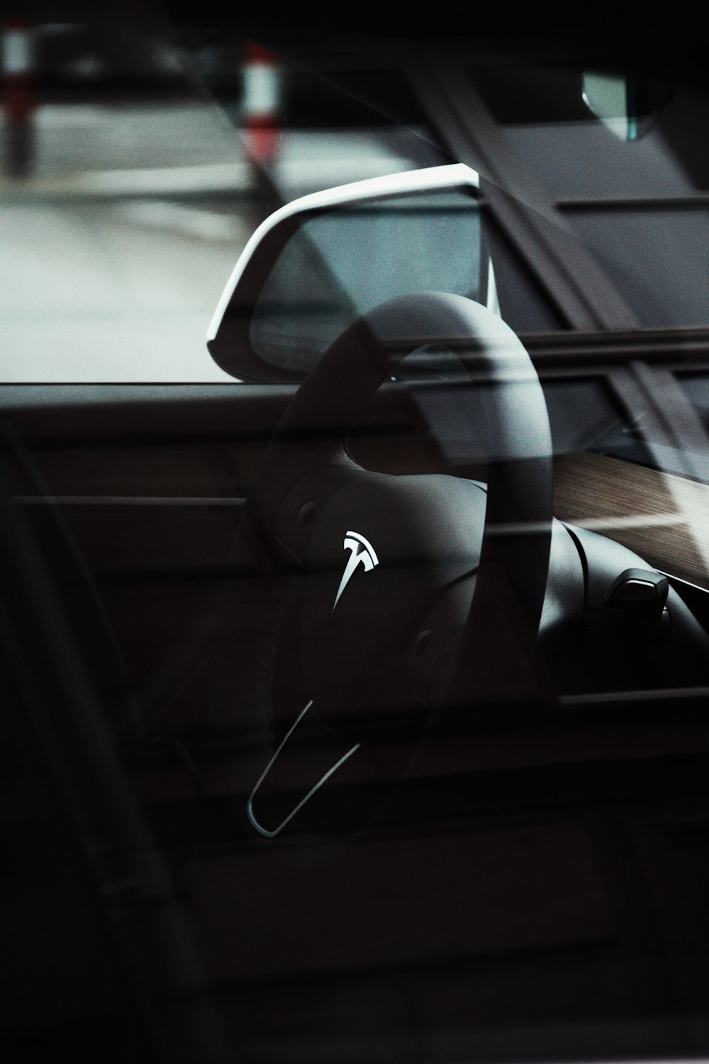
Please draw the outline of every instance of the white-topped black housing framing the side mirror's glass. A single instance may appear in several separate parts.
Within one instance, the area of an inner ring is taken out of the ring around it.
[[[284,348],[283,359],[277,351],[263,358],[263,351],[254,344],[252,325],[254,312],[286,245],[305,226],[315,219],[324,218],[337,211],[356,211],[387,201],[403,199],[416,204],[416,197],[451,193],[462,193],[477,200],[479,180],[470,167],[457,163],[449,166],[431,167],[424,170],[409,170],[404,173],[383,178],[372,178],[352,184],[315,193],[287,203],[268,217],[248,242],[241,252],[232,276],[226,283],[207,332],[207,348],[215,362],[226,372],[240,380],[286,383],[300,381],[307,367],[294,368],[289,365]],[[448,249],[441,248],[441,254]],[[349,249],[345,248],[345,253]],[[494,278],[488,270],[488,257],[480,269],[480,289],[484,301],[490,310],[497,311]],[[426,287],[437,287],[429,284]],[[383,292],[381,298],[387,298]],[[311,352],[315,364],[321,351]]]

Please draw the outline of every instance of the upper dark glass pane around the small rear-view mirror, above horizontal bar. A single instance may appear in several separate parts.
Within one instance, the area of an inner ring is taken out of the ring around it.
[[[709,100],[692,84],[690,64],[679,72],[659,61],[631,69],[587,55],[576,64],[470,68],[470,77],[507,150],[555,200],[709,187],[693,132],[706,123]],[[600,82],[623,93],[604,106]]]

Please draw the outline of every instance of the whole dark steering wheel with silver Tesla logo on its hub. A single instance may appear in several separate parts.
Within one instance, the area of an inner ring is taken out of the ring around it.
[[[458,354],[485,392],[476,434],[487,442],[487,491],[450,475],[371,472],[348,452],[348,431],[382,383],[429,344]],[[307,704],[294,721],[290,708],[281,734],[276,719],[276,754],[249,801],[261,834],[277,834],[368,736],[420,734],[432,710],[470,712],[524,686],[546,586],[552,487],[539,378],[484,306],[445,293],[398,297],[335,340],[283,416],[239,526],[263,571],[300,587],[284,656],[298,661]],[[310,793],[266,828],[260,785],[306,711],[341,760],[331,751]]]

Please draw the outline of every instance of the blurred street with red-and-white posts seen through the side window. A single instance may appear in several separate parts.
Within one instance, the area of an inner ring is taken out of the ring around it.
[[[281,203],[448,157],[235,29],[0,29],[4,382],[230,381],[204,336],[247,239]],[[360,76],[361,78],[361,76]]]

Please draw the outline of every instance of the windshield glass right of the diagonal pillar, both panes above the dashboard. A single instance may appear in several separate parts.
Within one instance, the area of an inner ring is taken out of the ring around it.
[[[709,174],[686,136],[709,114],[706,88],[689,57],[678,71],[652,50],[626,66],[608,52],[600,69],[550,53],[469,77],[506,150],[524,160],[530,195],[578,234],[639,325],[706,326]]]

